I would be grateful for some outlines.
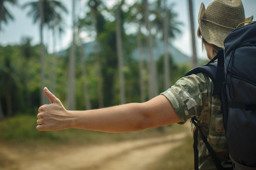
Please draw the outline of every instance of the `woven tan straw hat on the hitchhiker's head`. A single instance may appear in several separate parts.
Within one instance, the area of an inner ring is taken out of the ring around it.
[[[205,9],[201,4],[198,24],[202,38],[209,44],[224,48],[224,40],[236,26],[250,21],[253,16],[245,19],[245,11],[241,0],[214,0]]]

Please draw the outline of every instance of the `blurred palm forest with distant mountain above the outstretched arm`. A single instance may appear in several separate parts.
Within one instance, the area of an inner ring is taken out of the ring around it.
[[[6,4],[18,5],[18,1],[1,3],[0,25],[8,24],[14,18]],[[75,11],[82,4],[85,15],[81,17]],[[38,106],[47,103],[44,86],[67,109],[144,102],[169,88],[192,67],[191,58],[182,54],[175,53],[175,60],[183,62],[173,60],[175,48],[170,42],[181,33],[182,22],[177,21],[173,4],[163,0],[134,4],[122,0],[111,9],[100,0],[74,0],[72,11],[55,0],[27,2],[19,7],[27,9],[28,18],[39,25],[40,44],[32,45],[33,38],[24,36],[20,44],[0,46],[1,118],[35,115]],[[52,40],[51,48],[55,49],[65,31],[64,13],[73,18],[73,41],[64,51],[49,53],[47,41]],[[136,31],[129,33],[130,29]],[[45,30],[52,34],[43,40]],[[93,41],[84,43],[84,33]]]

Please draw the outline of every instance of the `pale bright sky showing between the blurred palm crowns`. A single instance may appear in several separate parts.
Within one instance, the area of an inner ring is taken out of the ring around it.
[[[18,0],[18,4],[21,6],[26,2],[31,2],[34,0]],[[61,41],[59,40],[56,50],[66,49],[72,40],[72,0],[59,0],[65,4],[69,11],[69,15],[65,15],[65,23],[67,29],[65,34],[62,35]],[[108,5],[115,4],[117,0],[106,0]],[[128,2],[133,2],[134,0],[128,0]],[[189,20],[189,6],[188,0],[168,0],[169,3],[174,3],[173,11],[177,13],[177,21],[182,22],[183,25],[180,26],[182,34],[177,35],[177,38],[171,43],[182,53],[192,56],[192,45],[191,45],[191,31],[190,31],[190,20]],[[200,4],[204,3],[205,7],[212,2],[212,0],[193,0],[193,18],[195,30],[198,28],[198,12],[200,9]],[[248,18],[254,15],[254,20],[256,20],[256,0],[242,0],[245,17]],[[31,37],[32,44],[39,43],[39,24],[33,24],[32,18],[27,16],[29,9],[21,9],[19,7],[13,7],[11,5],[7,6],[9,12],[13,15],[14,21],[9,21],[8,24],[2,24],[2,32],[0,32],[0,44],[1,45],[15,45],[20,44],[22,37]],[[44,42],[49,46],[49,52],[52,52],[51,49],[51,33],[49,31],[44,32]],[[90,38],[84,36],[85,42],[90,41]],[[199,58],[207,59],[206,52],[202,51],[202,42],[200,39],[196,38],[196,49],[197,55]]]

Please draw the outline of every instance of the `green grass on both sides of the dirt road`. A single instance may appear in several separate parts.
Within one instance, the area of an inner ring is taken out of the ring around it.
[[[160,137],[188,130],[188,126],[173,124],[157,128],[128,133],[105,133],[90,130],[66,129],[57,132],[36,130],[36,117],[20,115],[0,120],[0,142],[22,146],[106,144],[115,141]],[[193,137],[186,137],[181,146],[173,148],[160,161],[148,170],[191,170],[193,169]],[[24,148],[25,148],[24,147]]]

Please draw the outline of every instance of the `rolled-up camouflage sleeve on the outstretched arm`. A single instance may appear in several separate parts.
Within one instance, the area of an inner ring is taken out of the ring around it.
[[[172,104],[180,124],[186,123],[193,116],[199,116],[209,105],[213,83],[203,73],[192,74],[179,79],[171,88],[161,93]]]

